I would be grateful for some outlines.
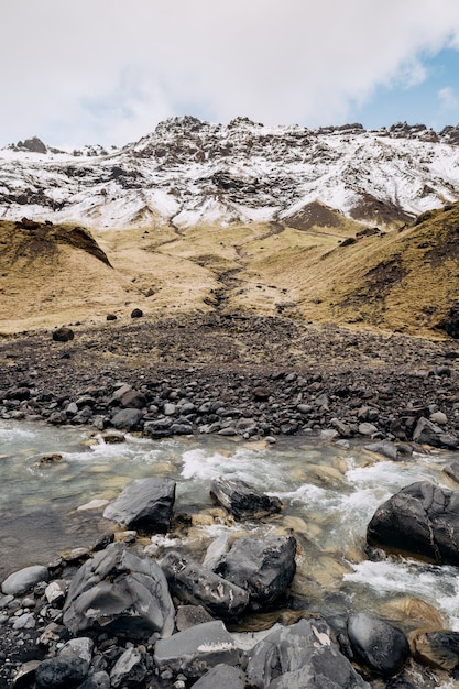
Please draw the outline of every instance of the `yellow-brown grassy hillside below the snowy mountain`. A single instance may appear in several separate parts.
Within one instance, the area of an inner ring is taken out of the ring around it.
[[[91,232],[2,221],[0,332],[122,320],[140,307],[442,337],[458,296],[459,204],[390,231],[320,205],[296,220]]]

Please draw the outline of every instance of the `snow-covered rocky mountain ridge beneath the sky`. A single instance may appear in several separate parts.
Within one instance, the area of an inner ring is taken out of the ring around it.
[[[184,117],[109,151],[64,152],[30,139],[0,151],[0,171],[4,219],[300,227],[329,225],[331,208],[384,226],[459,199],[459,125],[438,133],[406,123],[313,131]]]

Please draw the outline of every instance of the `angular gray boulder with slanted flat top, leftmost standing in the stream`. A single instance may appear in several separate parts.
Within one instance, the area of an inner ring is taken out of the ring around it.
[[[127,528],[165,534],[171,525],[175,485],[172,479],[132,481],[107,505],[103,516]]]

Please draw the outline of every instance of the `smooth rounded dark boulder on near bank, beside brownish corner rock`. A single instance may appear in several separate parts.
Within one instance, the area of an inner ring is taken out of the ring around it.
[[[396,675],[409,655],[408,639],[401,630],[365,613],[349,617],[348,636],[357,658],[384,677]]]

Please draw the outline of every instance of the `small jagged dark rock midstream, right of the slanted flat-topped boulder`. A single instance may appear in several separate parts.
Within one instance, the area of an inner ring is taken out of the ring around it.
[[[238,520],[267,516],[282,508],[278,497],[260,493],[241,479],[214,479],[210,495]]]

